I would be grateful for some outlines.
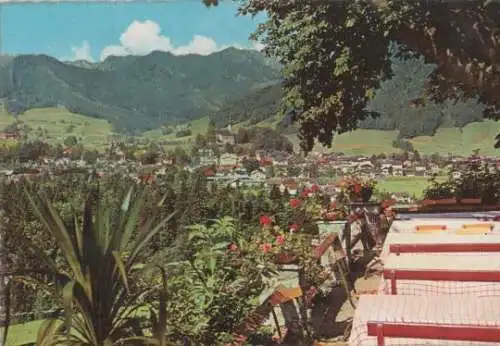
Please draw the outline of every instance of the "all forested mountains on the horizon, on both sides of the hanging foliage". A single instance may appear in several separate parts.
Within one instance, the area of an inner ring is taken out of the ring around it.
[[[482,121],[476,100],[412,106],[435,66],[393,59],[394,76],[369,104],[380,114],[359,124],[398,130],[400,138],[434,135],[438,128]],[[63,106],[109,121],[116,132],[139,134],[162,125],[210,116],[218,126],[253,125],[276,115],[281,67],[262,53],[228,48],[208,56],[152,52],[111,56],[100,63],[63,62],[46,55],[0,56],[0,101],[13,114]],[[282,121],[281,129],[289,122]],[[293,130],[293,128],[289,128]]]

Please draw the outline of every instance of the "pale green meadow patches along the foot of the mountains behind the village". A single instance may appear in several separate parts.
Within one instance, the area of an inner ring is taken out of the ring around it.
[[[68,135],[75,135],[82,138],[83,143],[88,147],[103,148],[107,143],[108,136],[112,134],[111,125],[101,119],[87,117],[71,113],[60,108],[33,109],[19,117],[36,132],[38,128],[46,130],[44,135],[49,142],[63,142]],[[0,111],[0,129],[11,124],[14,118]],[[192,135],[176,138],[175,133],[164,135],[161,129],[145,132],[143,137],[151,140],[164,141],[165,149],[172,149],[175,146],[189,146],[197,134],[205,133],[209,119],[204,117],[191,121]],[[270,127],[276,125],[276,120],[263,121],[257,126]],[[73,125],[72,133],[68,133],[68,128]],[[237,130],[245,123],[233,126]],[[438,130],[435,136],[419,136],[410,142],[423,154],[445,154],[457,155],[472,154],[475,149],[483,155],[500,156],[500,150],[494,149],[494,138],[500,132],[500,122],[486,120],[482,123],[473,123],[463,129],[443,128]],[[314,147],[317,152],[343,152],[346,155],[372,155],[380,153],[394,153],[398,149],[392,147],[392,141],[396,139],[397,131],[377,131],[377,130],[357,130],[344,133],[334,137],[332,147],[325,148],[319,144]],[[288,136],[299,149],[297,136]]]

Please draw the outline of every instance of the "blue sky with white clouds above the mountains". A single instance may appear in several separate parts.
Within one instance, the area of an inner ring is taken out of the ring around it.
[[[109,55],[155,50],[207,55],[229,46],[262,49],[249,35],[265,17],[236,16],[225,1],[38,2],[0,0],[1,53],[46,54],[61,60],[102,61]]]

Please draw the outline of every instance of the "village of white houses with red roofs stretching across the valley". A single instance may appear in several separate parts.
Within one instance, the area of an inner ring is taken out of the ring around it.
[[[1,137],[18,141],[17,133],[2,132]],[[381,154],[367,156],[345,156],[342,153],[313,152],[307,156],[277,150],[256,150],[250,155],[224,152],[227,144],[234,145],[234,133],[227,129],[217,132],[217,154],[210,148],[199,149],[197,155],[188,162],[179,163],[168,153],[160,153],[155,162],[144,163],[140,159],[127,158],[120,145],[112,143],[105,153],[99,154],[95,162],[88,162],[83,157],[73,155],[73,149],[66,147],[59,158],[42,156],[34,161],[0,163],[0,176],[7,180],[18,181],[21,177],[38,174],[64,174],[96,171],[100,175],[111,172],[129,174],[137,181],[141,177],[161,177],[169,167],[181,166],[194,172],[203,170],[209,181],[217,184],[237,186],[264,186],[271,189],[279,187],[296,195],[299,187],[317,185],[330,195],[338,194],[342,187],[339,182],[343,177],[358,176],[363,179],[384,181],[403,178],[411,184],[412,177],[432,178],[449,176],[457,179],[460,172],[472,163],[500,168],[497,157],[472,155],[430,156],[413,152],[400,154]],[[393,191],[390,197],[399,204],[412,204],[415,196],[408,191]]]

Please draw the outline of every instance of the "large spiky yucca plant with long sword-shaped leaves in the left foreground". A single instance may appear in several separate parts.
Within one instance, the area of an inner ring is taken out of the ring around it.
[[[83,217],[73,215],[71,224],[65,224],[43,194],[28,189],[26,192],[34,213],[55,238],[65,260],[61,267],[33,245],[43,264],[40,268],[4,273],[36,280],[48,289],[55,288],[62,298],[64,323],[53,320],[44,323],[37,344],[157,344],[161,330],[154,331],[156,338],[145,337],[138,322],[138,311],[143,308],[138,302],[154,288],[139,289],[132,284],[132,278],[143,267],[139,263],[141,250],[173,214],[158,220],[160,208],[156,208],[151,217],[138,226],[146,188],[137,194],[130,188],[118,215],[102,205],[97,188],[86,199]],[[158,207],[161,204],[163,200]],[[161,315],[164,320],[163,313]],[[4,339],[6,335],[7,330]]]

